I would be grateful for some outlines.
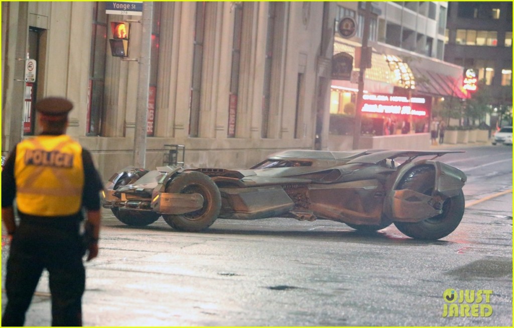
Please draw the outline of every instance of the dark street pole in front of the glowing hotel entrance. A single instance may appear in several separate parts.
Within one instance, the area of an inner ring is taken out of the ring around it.
[[[357,108],[355,110],[355,126],[354,126],[354,138],[353,138],[353,149],[359,149],[360,141],[360,129],[362,125],[362,94],[364,92],[364,73],[366,71],[366,65],[368,65],[368,38],[370,35],[370,14],[371,14],[371,2],[366,2],[366,8],[364,12],[364,30],[362,31],[362,49],[360,52],[360,72],[359,72],[359,83],[357,92]]]

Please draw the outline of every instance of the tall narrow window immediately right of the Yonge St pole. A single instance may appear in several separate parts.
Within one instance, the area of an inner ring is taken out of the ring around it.
[[[153,3],[152,44],[150,49],[150,85],[148,92],[148,117],[146,119],[146,136],[155,135],[155,104],[157,97],[157,78],[159,68],[159,39],[160,39],[161,3]]]

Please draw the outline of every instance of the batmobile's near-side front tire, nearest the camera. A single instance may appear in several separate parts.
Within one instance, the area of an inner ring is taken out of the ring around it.
[[[203,173],[183,172],[166,187],[166,192],[174,194],[200,194],[204,206],[198,210],[181,215],[162,215],[172,228],[178,231],[201,231],[210,227],[218,218],[222,198],[216,184]]]

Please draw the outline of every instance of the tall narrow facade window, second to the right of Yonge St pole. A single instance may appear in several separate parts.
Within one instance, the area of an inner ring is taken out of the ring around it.
[[[189,136],[198,137],[200,121],[201,73],[204,59],[205,10],[207,3],[196,3],[195,33],[193,45],[193,76],[189,108]]]

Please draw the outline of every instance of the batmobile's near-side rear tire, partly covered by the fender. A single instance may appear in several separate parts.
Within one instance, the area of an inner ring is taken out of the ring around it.
[[[435,182],[435,169],[432,165],[413,168],[398,185],[398,189],[411,189],[430,195]],[[443,213],[416,223],[394,222],[403,234],[425,240],[435,240],[448,236],[461,223],[464,216],[464,192],[448,198],[443,204]]]

